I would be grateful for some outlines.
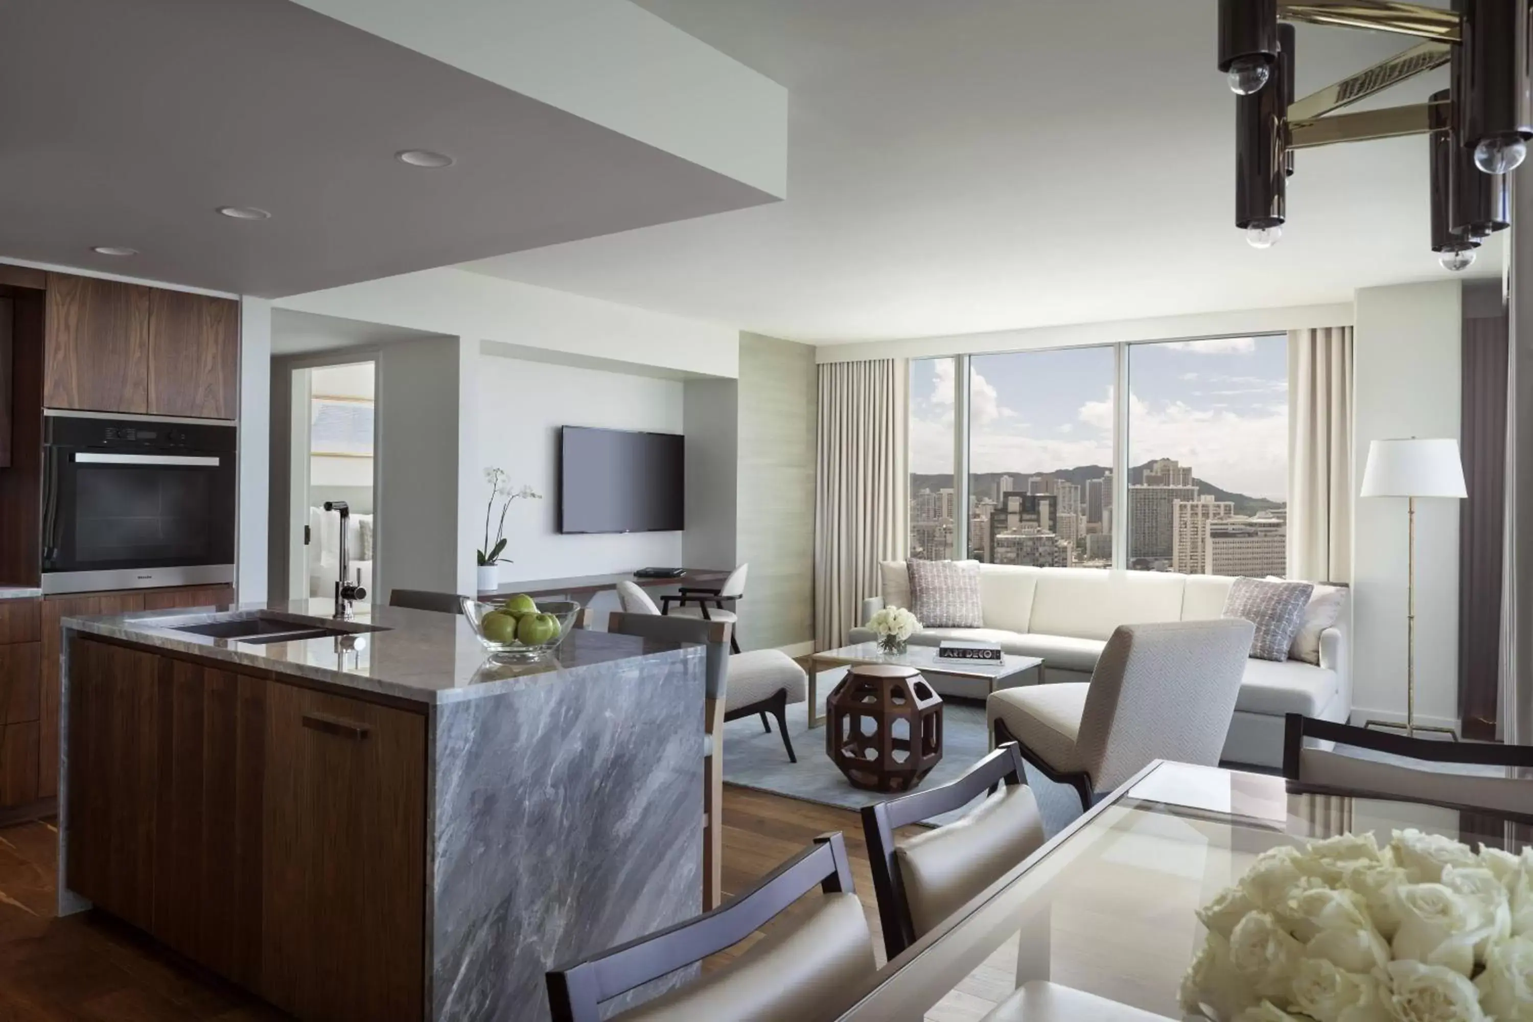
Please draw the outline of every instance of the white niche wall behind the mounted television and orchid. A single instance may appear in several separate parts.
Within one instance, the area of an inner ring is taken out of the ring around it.
[[[484,538],[486,467],[504,469],[514,487],[532,486],[543,493],[541,501],[515,501],[506,515],[506,556],[512,564],[500,567],[501,581],[682,564],[679,532],[579,536],[558,532],[560,426],[679,434],[682,382],[489,354],[478,355],[475,377],[478,450],[477,460],[463,464],[474,493],[466,526],[471,547],[478,549]],[[492,536],[494,530],[491,522]]]

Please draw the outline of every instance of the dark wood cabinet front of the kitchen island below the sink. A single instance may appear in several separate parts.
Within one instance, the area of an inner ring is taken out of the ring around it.
[[[426,719],[77,636],[67,886],[299,1017],[419,1019]]]

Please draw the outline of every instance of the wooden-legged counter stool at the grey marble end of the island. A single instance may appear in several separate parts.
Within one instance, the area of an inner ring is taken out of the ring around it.
[[[702,906],[724,899],[724,700],[730,625],[722,621],[613,611],[607,631],[658,642],[694,642],[707,650],[702,699]]]

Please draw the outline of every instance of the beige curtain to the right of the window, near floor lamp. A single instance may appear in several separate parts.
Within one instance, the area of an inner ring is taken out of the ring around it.
[[[1288,576],[1352,575],[1352,328],[1288,334]]]

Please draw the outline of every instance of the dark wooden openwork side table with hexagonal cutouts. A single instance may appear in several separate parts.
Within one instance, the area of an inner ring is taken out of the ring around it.
[[[848,668],[825,700],[825,754],[855,788],[911,791],[943,758],[943,697],[912,667]]]

